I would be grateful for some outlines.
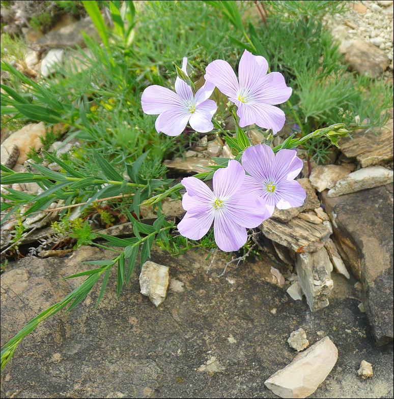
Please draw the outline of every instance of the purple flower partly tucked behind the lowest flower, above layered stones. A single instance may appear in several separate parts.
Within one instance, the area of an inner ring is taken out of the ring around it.
[[[245,189],[264,198],[269,216],[275,206],[289,209],[304,203],[306,193],[294,180],[303,166],[297,151],[280,149],[275,156],[265,144],[247,147],[242,155],[242,166],[250,175],[245,176]]]

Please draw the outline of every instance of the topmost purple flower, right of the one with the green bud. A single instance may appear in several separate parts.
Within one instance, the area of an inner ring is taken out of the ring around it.
[[[204,76],[237,107],[239,126],[256,124],[276,134],[285,124],[285,113],[273,105],[289,100],[292,88],[287,87],[279,72],[267,75],[267,60],[245,50],[239,62],[239,81],[230,64],[216,59],[206,68]]]

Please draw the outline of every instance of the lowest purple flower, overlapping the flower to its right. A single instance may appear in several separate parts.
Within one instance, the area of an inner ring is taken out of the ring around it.
[[[246,228],[257,227],[268,217],[262,198],[243,190],[245,171],[234,160],[213,175],[213,192],[201,180],[185,177],[187,192],[182,206],[187,211],[179,232],[192,240],[207,234],[213,222],[215,242],[226,252],[238,251],[247,240]]]

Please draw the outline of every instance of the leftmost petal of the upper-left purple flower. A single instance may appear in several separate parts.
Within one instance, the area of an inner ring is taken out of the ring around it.
[[[157,84],[147,87],[141,97],[142,109],[149,115],[160,114],[181,104],[181,99],[174,91]]]

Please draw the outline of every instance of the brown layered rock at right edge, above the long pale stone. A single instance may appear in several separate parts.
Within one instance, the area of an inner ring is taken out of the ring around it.
[[[339,145],[343,154],[348,158],[357,158],[362,168],[379,165],[392,161],[393,144],[393,119],[389,119],[381,129],[379,136],[365,133],[365,130],[352,132],[352,138],[344,137]]]

